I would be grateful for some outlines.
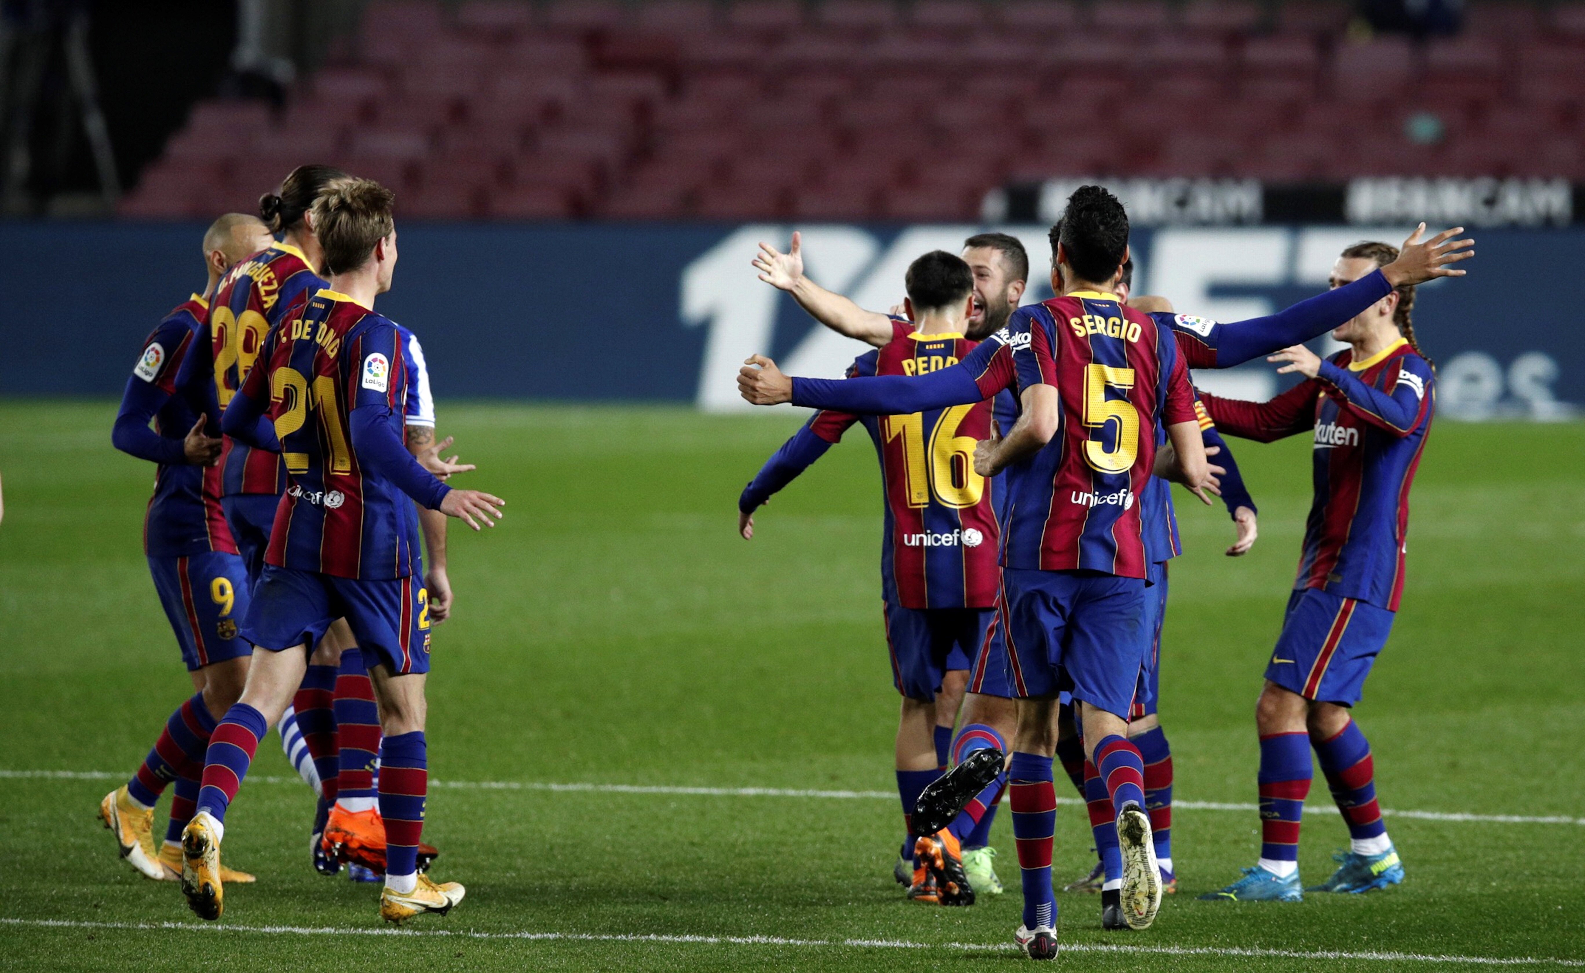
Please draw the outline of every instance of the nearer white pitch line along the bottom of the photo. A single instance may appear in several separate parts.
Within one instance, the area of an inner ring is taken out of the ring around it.
[[[964,952],[1016,952],[1008,944],[992,943],[915,943],[910,940],[791,940],[783,937],[707,937],[680,933],[590,933],[590,932],[476,932],[452,929],[393,929],[333,925],[220,925],[197,922],[86,922],[78,919],[13,919],[0,918],[0,925],[32,929],[116,929],[130,932],[239,932],[254,935],[295,937],[417,937],[453,940],[526,940],[564,943],[663,943],[702,946],[799,946],[845,949],[956,949]],[[1238,956],[1298,960],[1366,960],[1381,963],[1453,963],[1471,967],[1585,967],[1585,960],[1530,956],[1449,956],[1436,952],[1349,952],[1342,949],[1262,949],[1258,946],[1113,946],[1102,943],[1064,943],[1062,952],[1114,952],[1130,956]]]

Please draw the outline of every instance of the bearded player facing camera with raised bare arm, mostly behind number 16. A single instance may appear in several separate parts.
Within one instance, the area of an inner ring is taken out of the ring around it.
[[[973,311],[964,320],[964,336],[978,342],[999,331],[1022,298],[1029,277],[1029,254],[1016,236],[980,233],[964,241],[962,258],[973,271]],[[819,287],[804,274],[802,235],[792,235],[786,254],[761,242],[753,265],[759,271],[761,280],[791,293],[804,311],[838,334],[877,347],[892,341],[896,320],[892,315],[865,311],[851,300]],[[896,311],[907,314],[905,307]],[[995,398],[992,417],[1002,428],[1013,426],[1016,401],[1011,395]],[[992,493],[1005,499],[1003,490]],[[747,526],[751,529],[751,523]],[[1006,753],[1005,742],[1013,735],[1016,719],[1010,699],[1011,689],[1006,686],[1005,667],[1000,662],[980,664],[986,645],[989,640],[983,639],[975,651],[962,654],[954,650],[948,656],[943,689],[937,694],[935,732],[940,770],[946,769],[949,757],[951,762],[962,764],[980,750]],[[964,669],[961,681],[954,678],[959,677],[957,669]],[[968,683],[970,673],[973,675],[972,683]],[[967,693],[964,693],[962,683],[968,683]],[[957,723],[959,699],[964,704],[962,721],[954,738],[951,729]],[[945,824],[961,840],[964,873],[976,894],[1002,894],[1002,881],[994,867],[995,848],[991,846],[989,835],[1003,784],[1005,776],[986,784],[983,794],[978,794],[957,818],[948,818],[949,822]],[[911,810],[911,805],[905,810]],[[930,834],[937,830],[940,827],[930,829]],[[911,887],[915,878],[913,846],[915,841],[905,840],[903,853],[892,870],[905,887]]]

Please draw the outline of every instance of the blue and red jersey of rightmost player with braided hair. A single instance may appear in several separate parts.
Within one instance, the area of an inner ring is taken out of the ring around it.
[[[1270,403],[1203,395],[1224,433],[1271,442],[1314,433],[1316,498],[1293,588],[1390,612],[1403,597],[1409,486],[1436,409],[1431,364],[1398,339],[1363,361],[1344,350]]]

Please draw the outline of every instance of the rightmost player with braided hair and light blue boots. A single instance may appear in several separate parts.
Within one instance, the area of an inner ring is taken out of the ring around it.
[[[1414,238],[1411,238],[1412,242]],[[1342,287],[1398,258],[1355,244],[1331,271]],[[1349,851],[1312,892],[1368,892],[1403,881],[1376,802],[1371,748],[1349,710],[1387,643],[1403,597],[1409,488],[1425,450],[1436,372],[1414,341],[1414,287],[1396,287],[1333,338],[1349,349],[1320,360],[1303,345],[1268,358],[1303,382],[1268,403],[1206,395],[1227,433],[1260,442],[1311,433],[1316,499],[1282,634],[1255,704],[1260,732],[1260,859],[1201,899],[1300,902],[1298,834],[1311,748],[1349,826]]]

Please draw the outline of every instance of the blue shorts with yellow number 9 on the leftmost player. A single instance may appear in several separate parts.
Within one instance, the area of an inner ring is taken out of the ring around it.
[[[149,558],[149,574],[182,647],[187,672],[254,653],[236,628],[249,602],[243,558],[220,551]]]

